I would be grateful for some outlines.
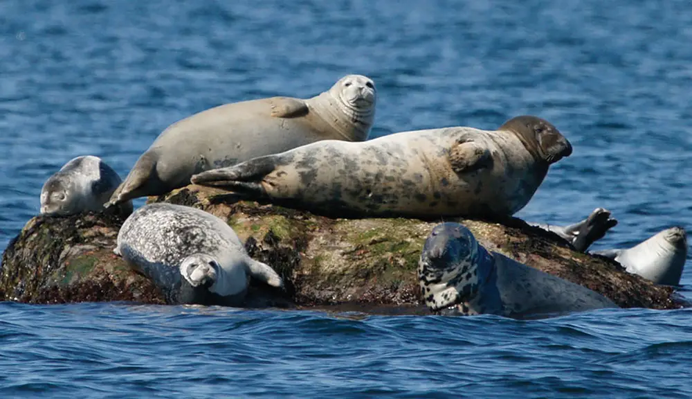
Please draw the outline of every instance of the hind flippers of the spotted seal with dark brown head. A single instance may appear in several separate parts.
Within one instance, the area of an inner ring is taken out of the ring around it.
[[[273,172],[276,163],[273,155],[258,157],[228,168],[212,169],[193,175],[190,181],[200,186],[224,188],[250,197],[262,197],[266,190],[262,180]]]

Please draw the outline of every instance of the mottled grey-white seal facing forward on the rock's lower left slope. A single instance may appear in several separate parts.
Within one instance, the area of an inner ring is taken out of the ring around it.
[[[271,267],[248,256],[228,224],[189,206],[137,209],[122,224],[114,252],[171,304],[241,305],[251,276],[283,286]]]

